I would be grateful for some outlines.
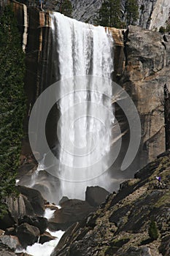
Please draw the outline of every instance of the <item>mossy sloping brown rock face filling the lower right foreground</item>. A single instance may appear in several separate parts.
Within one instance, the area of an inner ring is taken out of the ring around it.
[[[121,184],[117,195],[66,231],[51,256],[168,256],[169,167],[167,152]],[[151,219],[158,228],[155,240],[148,233]]]

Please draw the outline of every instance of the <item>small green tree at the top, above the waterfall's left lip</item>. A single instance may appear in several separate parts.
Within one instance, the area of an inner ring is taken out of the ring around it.
[[[69,0],[57,0],[57,10],[70,18],[72,18],[72,2]]]

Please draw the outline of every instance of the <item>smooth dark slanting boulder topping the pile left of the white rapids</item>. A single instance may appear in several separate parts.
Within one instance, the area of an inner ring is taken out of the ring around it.
[[[43,215],[45,212],[45,199],[41,193],[36,189],[29,187],[18,186],[18,191],[25,195],[28,201],[31,203],[35,214]]]

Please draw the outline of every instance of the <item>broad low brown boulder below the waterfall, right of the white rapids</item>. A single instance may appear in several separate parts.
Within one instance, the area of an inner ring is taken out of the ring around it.
[[[80,221],[88,216],[96,208],[89,205],[88,202],[78,199],[70,199],[61,203],[61,209],[53,214],[48,222],[50,230],[66,230],[73,223]]]

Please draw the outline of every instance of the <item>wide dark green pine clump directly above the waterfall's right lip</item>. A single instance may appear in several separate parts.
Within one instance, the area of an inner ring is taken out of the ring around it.
[[[120,16],[120,0],[104,0],[97,14],[96,25],[120,28]]]

